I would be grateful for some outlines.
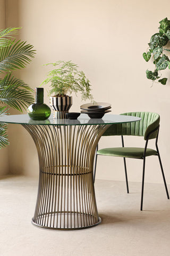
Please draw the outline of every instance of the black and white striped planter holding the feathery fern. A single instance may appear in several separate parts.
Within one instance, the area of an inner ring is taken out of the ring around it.
[[[66,113],[72,106],[72,96],[50,97],[49,104],[54,110],[54,119],[66,118]]]

